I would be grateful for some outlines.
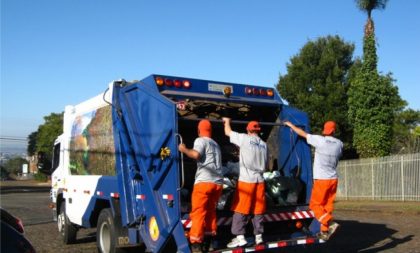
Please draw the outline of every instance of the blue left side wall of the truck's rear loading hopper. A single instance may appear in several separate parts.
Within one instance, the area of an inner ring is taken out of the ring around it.
[[[115,85],[113,105],[123,225],[150,251],[161,252],[173,235],[179,252],[189,252],[180,222],[176,106],[140,83]]]

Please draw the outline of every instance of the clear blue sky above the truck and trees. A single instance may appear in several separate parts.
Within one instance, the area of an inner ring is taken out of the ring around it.
[[[378,69],[420,109],[420,1],[373,11]],[[26,138],[43,117],[112,80],[163,74],[273,87],[310,40],[338,35],[362,56],[354,0],[1,0],[0,137]],[[281,95],[281,94],[280,94]],[[22,141],[0,139],[0,151]]]

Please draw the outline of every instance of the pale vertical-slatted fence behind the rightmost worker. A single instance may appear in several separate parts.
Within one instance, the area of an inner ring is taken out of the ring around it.
[[[420,153],[340,161],[338,200],[420,201]]]

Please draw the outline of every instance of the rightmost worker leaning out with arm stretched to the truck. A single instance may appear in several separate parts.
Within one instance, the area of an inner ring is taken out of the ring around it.
[[[337,164],[343,149],[343,142],[333,136],[336,123],[334,121],[325,122],[323,136],[309,134],[289,121],[284,124],[305,138],[308,144],[315,147],[314,183],[309,207],[321,224],[321,232],[317,234],[318,238],[328,240],[339,226],[332,221],[338,183]]]

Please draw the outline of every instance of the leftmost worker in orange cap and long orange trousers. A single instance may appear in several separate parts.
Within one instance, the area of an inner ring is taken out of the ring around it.
[[[207,251],[211,236],[217,232],[216,204],[223,189],[222,155],[211,134],[210,121],[201,120],[198,123],[199,137],[195,139],[194,147],[189,149],[183,143],[178,146],[180,152],[197,161],[190,213],[192,252]],[[206,240],[205,235],[208,235]]]

